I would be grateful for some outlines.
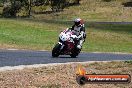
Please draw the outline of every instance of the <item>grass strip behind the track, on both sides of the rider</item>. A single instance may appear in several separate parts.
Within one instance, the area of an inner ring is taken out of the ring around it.
[[[0,47],[52,50],[58,34],[72,22],[0,19]],[[132,53],[132,25],[86,22],[85,52]]]

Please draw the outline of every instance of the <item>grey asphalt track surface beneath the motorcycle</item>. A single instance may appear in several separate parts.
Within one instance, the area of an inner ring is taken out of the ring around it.
[[[48,51],[0,50],[0,67],[112,60],[132,60],[132,54],[80,53],[77,58],[67,55],[52,58],[51,52]]]

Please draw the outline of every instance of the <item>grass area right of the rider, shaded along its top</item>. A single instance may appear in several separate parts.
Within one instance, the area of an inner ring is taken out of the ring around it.
[[[94,24],[86,51],[132,52],[131,28],[132,25]]]

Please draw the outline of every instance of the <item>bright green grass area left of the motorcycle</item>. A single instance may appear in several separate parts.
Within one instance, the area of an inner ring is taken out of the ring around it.
[[[29,49],[49,49],[57,40],[57,30],[53,31],[46,23],[43,26],[34,22],[3,19],[0,23],[1,44]]]

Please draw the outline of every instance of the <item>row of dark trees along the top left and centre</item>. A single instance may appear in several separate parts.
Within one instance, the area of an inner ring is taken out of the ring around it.
[[[24,8],[28,16],[31,16],[33,6],[51,5],[53,12],[62,11],[70,4],[79,4],[80,0],[1,0],[3,2],[3,17],[16,17]],[[72,2],[72,3],[71,3]]]

